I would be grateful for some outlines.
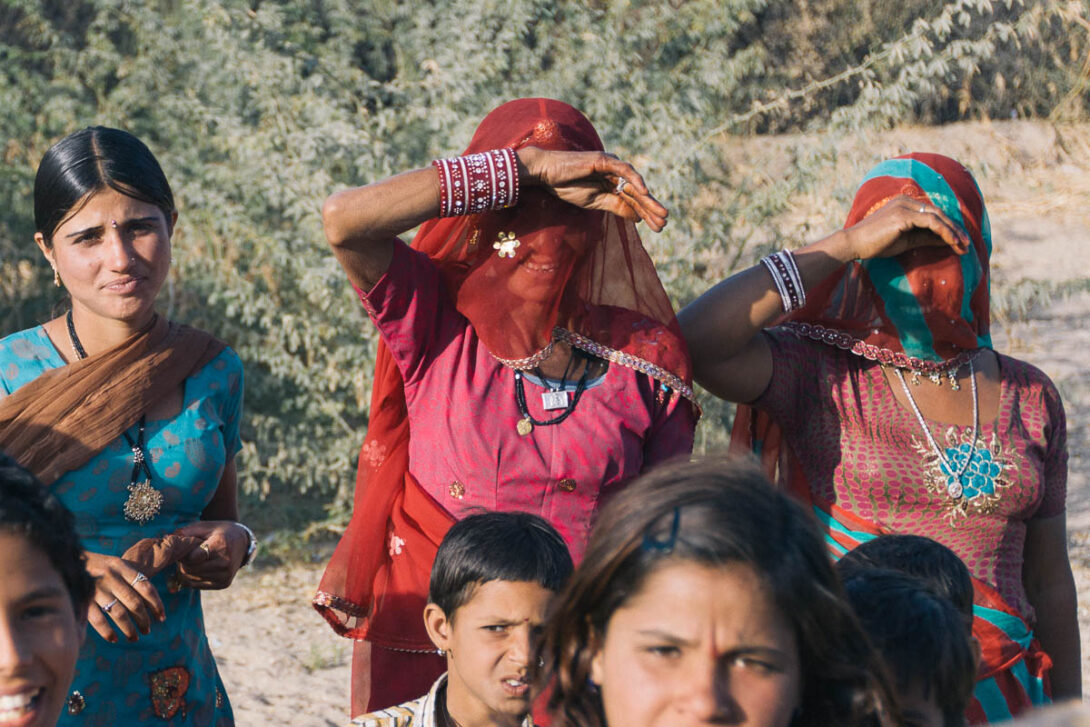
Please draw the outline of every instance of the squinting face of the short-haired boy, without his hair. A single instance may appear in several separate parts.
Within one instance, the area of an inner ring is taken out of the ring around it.
[[[432,641],[447,653],[447,710],[458,724],[518,725],[530,712],[533,643],[553,592],[529,581],[488,581],[447,618],[428,604]]]

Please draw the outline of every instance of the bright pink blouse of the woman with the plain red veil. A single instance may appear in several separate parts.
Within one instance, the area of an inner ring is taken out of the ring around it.
[[[578,562],[609,497],[652,464],[692,451],[692,407],[610,364],[564,422],[521,436],[514,373],[485,350],[428,257],[395,250],[360,300],[404,378],[410,472],[456,518],[481,508],[542,516]],[[546,389],[535,380],[523,379],[526,407],[538,421],[553,419],[558,412],[544,410]]]

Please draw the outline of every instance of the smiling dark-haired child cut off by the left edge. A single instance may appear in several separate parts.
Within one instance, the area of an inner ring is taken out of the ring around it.
[[[52,727],[87,626],[95,584],[72,513],[0,453],[0,724]]]

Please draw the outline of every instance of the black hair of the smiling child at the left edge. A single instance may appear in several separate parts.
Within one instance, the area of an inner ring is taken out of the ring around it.
[[[27,470],[0,452],[0,532],[25,537],[60,574],[76,614],[84,614],[95,592],[75,519]]]

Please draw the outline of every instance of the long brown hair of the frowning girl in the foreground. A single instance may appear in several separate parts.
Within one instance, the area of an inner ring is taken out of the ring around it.
[[[594,644],[657,569],[678,561],[746,564],[766,584],[799,649],[801,704],[792,727],[897,724],[893,689],[844,599],[813,518],[751,463],[675,462],[620,492],[601,512],[586,555],[550,609],[544,668],[557,727],[605,724],[588,684]]]

